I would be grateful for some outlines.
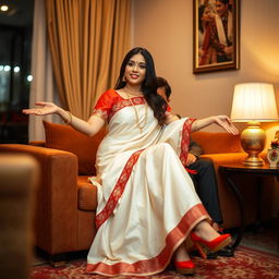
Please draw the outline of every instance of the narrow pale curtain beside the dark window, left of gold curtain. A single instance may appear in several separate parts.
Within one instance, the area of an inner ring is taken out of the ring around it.
[[[33,38],[32,38],[32,75],[29,107],[36,101],[54,101],[59,105],[53,81],[51,57],[47,44],[46,7],[45,1],[34,1]],[[45,141],[45,131],[41,120],[59,122],[56,116],[29,116],[28,140]]]

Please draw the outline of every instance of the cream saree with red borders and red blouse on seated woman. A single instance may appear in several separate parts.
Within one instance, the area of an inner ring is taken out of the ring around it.
[[[133,102],[133,104],[132,104]],[[185,171],[193,119],[160,126],[144,97],[102,94],[94,112],[108,121],[96,159],[97,234],[87,272],[147,276],[208,214]]]

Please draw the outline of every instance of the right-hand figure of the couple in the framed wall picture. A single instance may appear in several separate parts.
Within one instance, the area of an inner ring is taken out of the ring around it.
[[[217,62],[232,61],[233,24],[229,0],[216,0],[216,15],[210,24],[210,46],[217,51]]]

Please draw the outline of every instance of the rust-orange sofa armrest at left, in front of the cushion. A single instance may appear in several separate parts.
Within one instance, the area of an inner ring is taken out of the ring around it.
[[[36,195],[36,245],[50,254],[72,251],[77,241],[77,157],[21,144],[1,144],[0,153],[28,154],[38,160],[41,175]]]

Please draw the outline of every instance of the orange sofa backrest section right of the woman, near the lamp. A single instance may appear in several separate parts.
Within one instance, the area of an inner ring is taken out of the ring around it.
[[[192,140],[202,146],[204,154],[243,151],[240,135],[198,131],[192,134]]]

